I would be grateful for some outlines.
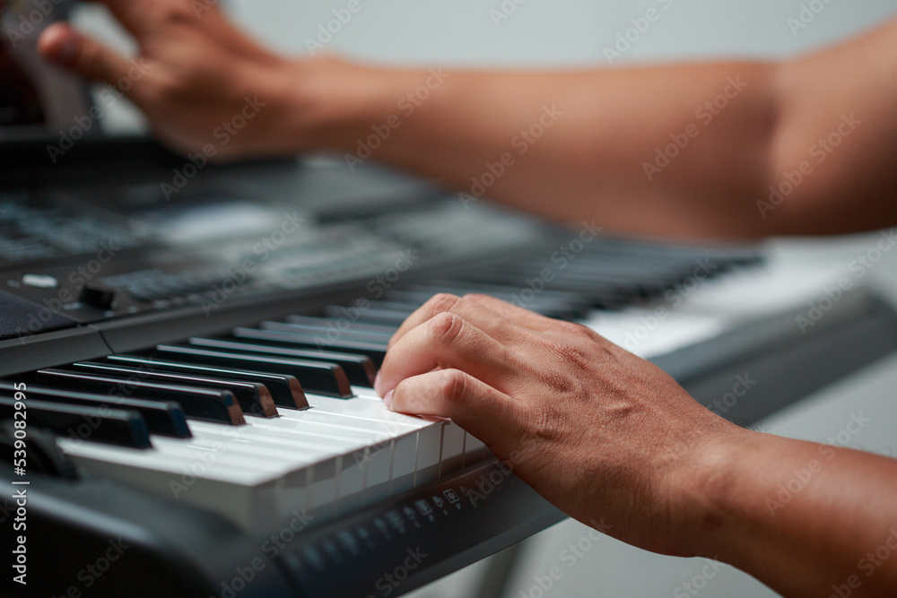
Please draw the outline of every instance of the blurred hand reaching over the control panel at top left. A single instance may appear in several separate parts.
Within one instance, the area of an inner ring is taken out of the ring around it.
[[[227,22],[211,1],[102,2],[134,35],[138,56],[119,56],[65,23],[44,31],[39,51],[124,93],[172,149],[201,152],[211,144],[214,156],[208,157],[228,160],[314,143],[305,91],[327,61],[274,55]]]

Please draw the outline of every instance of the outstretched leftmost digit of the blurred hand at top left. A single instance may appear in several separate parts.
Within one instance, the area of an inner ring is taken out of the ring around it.
[[[74,73],[111,85],[126,77],[131,68],[131,63],[123,56],[62,22],[50,25],[40,35],[38,51],[41,56]]]

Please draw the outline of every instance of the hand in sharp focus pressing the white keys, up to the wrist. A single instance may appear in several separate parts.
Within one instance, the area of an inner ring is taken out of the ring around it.
[[[568,515],[680,556],[714,446],[746,434],[585,326],[480,295],[415,311],[377,386],[396,412],[457,422]]]

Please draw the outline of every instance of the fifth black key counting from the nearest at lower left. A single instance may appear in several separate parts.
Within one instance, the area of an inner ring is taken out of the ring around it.
[[[154,360],[137,355],[109,355],[106,358],[110,363],[117,363],[133,368],[154,369],[166,372],[183,372],[196,376],[211,376],[227,380],[243,380],[264,385],[271,394],[274,404],[284,409],[308,409],[309,401],[305,398],[305,392],[299,380],[283,374],[271,374],[268,372],[249,371],[246,369],[221,368],[205,366],[197,363],[185,363],[179,361]]]

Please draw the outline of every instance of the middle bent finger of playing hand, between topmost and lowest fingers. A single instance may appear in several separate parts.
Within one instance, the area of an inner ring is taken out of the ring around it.
[[[406,377],[435,368],[461,369],[501,388],[502,380],[521,369],[501,342],[456,314],[442,313],[417,326],[397,342],[383,360],[380,396]]]

